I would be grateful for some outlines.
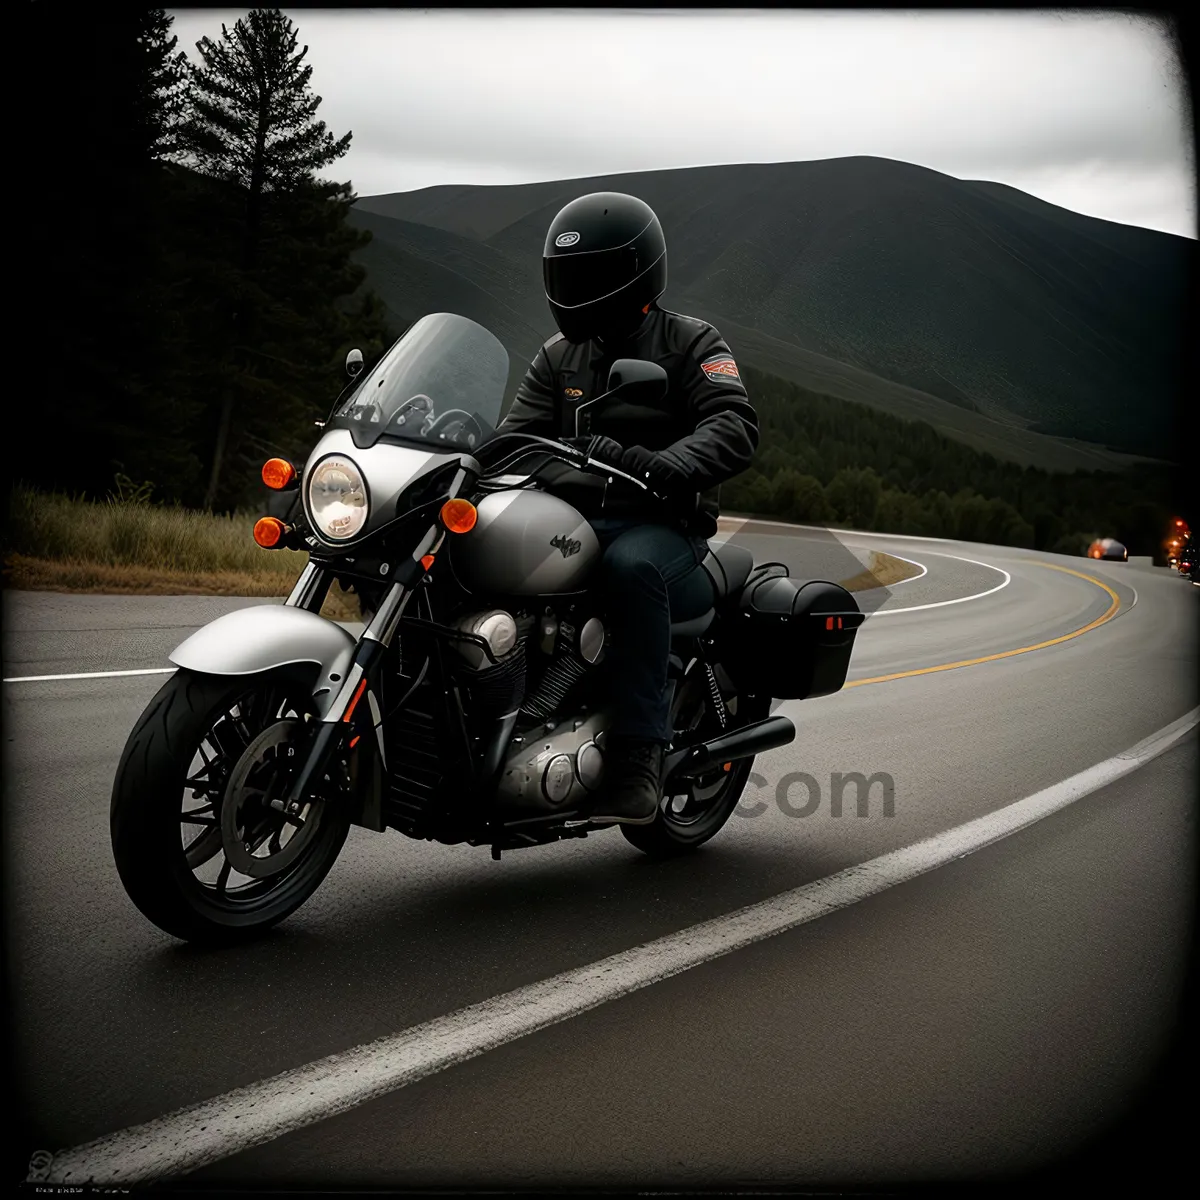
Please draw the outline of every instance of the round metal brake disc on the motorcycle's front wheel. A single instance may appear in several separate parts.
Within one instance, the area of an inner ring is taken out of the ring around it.
[[[221,842],[229,865],[253,880],[278,875],[290,866],[320,824],[319,800],[305,803],[293,818],[272,809],[270,803],[287,794],[292,782],[300,726],[290,716],[269,725],[246,746],[229,773],[221,804]],[[278,850],[272,851],[272,844]]]

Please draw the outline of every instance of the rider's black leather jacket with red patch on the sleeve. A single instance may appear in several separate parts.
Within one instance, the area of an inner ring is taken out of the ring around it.
[[[758,446],[758,418],[746,397],[733,355],[707,322],[652,305],[628,341],[616,346],[568,342],[560,334],[538,352],[502,430],[574,437],[575,410],[606,390],[617,359],[648,359],[667,373],[665,401],[655,408],[614,406],[586,409],[587,433],[604,433],[623,446],[658,451],[674,479],[670,503],[649,500],[630,484],[605,481],[566,464],[541,472],[556,494],[584,516],[666,520],[689,533],[716,532],[716,491],[745,470]]]

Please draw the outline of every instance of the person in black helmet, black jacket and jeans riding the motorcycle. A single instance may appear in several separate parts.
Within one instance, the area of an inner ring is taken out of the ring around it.
[[[648,824],[672,736],[671,622],[712,607],[712,584],[695,568],[716,532],[715,488],[749,466],[758,419],[720,334],[659,307],[666,240],[648,204],[619,192],[572,200],[551,222],[542,275],[559,334],[538,352],[502,428],[574,439],[576,409],[605,391],[614,360],[649,359],[667,373],[659,406],[601,406],[594,416],[584,409],[588,436],[575,439],[665,499],[569,468],[559,468],[556,486],[604,547],[611,724],[605,786],[589,816]]]

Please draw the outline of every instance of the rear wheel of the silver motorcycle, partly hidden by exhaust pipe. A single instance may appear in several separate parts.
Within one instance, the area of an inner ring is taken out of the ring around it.
[[[708,691],[704,665],[694,662],[680,684],[672,714],[673,744],[702,742],[763,715],[751,697],[736,697],[733,704],[736,712],[727,713],[727,724],[721,726]],[[754,770],[754,758],[739,758],[727,766],[727,770],[721,766],[685,786],[672,787],[660,800],[652,824],[622,824],[620,832],[631,845],[653,858],[673,858],[702,846],[733,815]]]

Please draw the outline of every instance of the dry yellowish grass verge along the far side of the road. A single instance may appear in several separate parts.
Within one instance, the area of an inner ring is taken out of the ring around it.
[[[17,488],[4,534],[4,586],[109,595],[284,596],[307,556],[256,545],[256,516]],[[916,574],[911,563],[871,551],[869,565],[841,582],[860,592]],[[322,611],[335,620],[360,616],[356,598],[336,584]]]

